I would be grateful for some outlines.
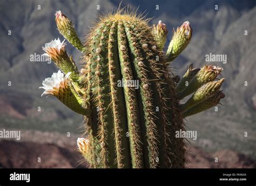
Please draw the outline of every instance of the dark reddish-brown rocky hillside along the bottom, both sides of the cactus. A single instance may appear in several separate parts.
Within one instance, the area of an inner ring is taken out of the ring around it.
[[[80,154],[70,147],[36,142],[0,141],[0,168],[87,168]],[[33,149],[31,151],[31,149]],[[219,157],[215,162],[215,157]],[[256,161],[231,150],[209,154],[190,149],[186,168],[256,168]]]

